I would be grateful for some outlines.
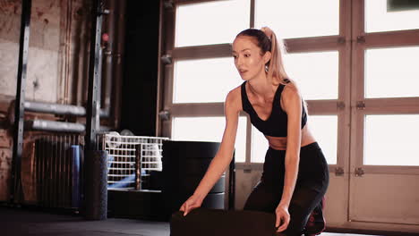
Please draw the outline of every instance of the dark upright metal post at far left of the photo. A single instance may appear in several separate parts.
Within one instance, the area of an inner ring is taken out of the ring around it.
[[[21,2],[21,38],[19,46],[19,64],[16,86],[16,101],[13,124],[13,159],[12,159],[12,184],[10,201],[15,203],[21,194],[21,152],[23,146],[23,118],[26,88],[26,72],[28,67],[28,51],[30,40],[30,10],[32,1]]]

